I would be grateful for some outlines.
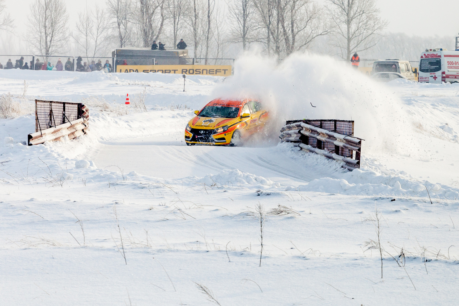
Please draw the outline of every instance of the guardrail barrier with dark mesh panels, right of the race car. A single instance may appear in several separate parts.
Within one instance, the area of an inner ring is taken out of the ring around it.
[[[352,171],[360,168],[363,140],[352,136],[353,132],[351,120],[291,120],[280,129],[279,138],[297,143],[304,151],[344,162],[343,167]]]

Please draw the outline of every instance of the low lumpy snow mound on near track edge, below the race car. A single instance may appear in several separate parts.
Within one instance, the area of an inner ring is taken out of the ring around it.
[[[197,182],[206,184],[208,186],[226,185],[231,187],[246,187],[250,185],[263,185],[263,187],[280,187],[279,183],[274,183],[273,181],[262,176],[256,176],[250,173],[241,172],[237,169],[223,170],[218,174],[208,174]]]

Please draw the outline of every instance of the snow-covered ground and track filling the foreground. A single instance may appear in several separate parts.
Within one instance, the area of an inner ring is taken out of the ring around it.
[[[305,61],[327,80],[322,66]],[[277,128],[245,147],[186,146],[192,111],[232,86],[230,78],[190,76],[183,93],[181,76],[37,71],[25,75],[30,84],[22,98],[19,72],[0,71],[0,94],[13,93],[23,112],[0,119],[2,305],[211,305],[196,283],[222,306],[458,303],[459,86],[378,87],[343,70],[354,85],[400,99],[403,125],[413,127],[410,135],[419,141],[399,144],[400,154],[392,143],[377,143],[387,135],[378,138],[368,124],[361,169],[347,171],[278,143]],[[348,91],[368,91],[348,90],[354,85],[340,78],[316,84],[299,75],[317,88],[308,91],[314,111],[327,108],[321,104],[333,101],[329,97],[347,101],[353,99]],[[269,94],[283,99],[288,86],[275,72],[270,77],[282,88],[269,84]],[[144,88],[146,113],[107,101],[124,102],[126,93],[132,99]],[[56,100],[85,99],[90,133],[25,146],[34,130],[28,103],[42,92]],[[380,97],[374,99],[365,107],[385,112]],[[281,108],[276,112],[279,122],[292,119]],[[436,149],[424,151],[420,143]],[[268,217],[261,267],[257,204]],[[382,279],[379,250],[367,244],[377,239],[375,207],[383,216]],[[404,268],[393,259],[402,252]]]

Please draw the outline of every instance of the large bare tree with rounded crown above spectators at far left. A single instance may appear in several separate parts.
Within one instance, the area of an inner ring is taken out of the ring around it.
[[[30,44],[45,57],[63,51],[68,39],[67,20],[63,0],[35,0],[28,15]]]

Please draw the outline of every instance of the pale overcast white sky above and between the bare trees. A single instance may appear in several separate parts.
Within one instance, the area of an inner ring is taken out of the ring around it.
[[[223,1],[223,0],[222,0]],[[318,0],[325,3],[325,0]],[[16,31],[26,30],[29,5],[33,0],[6,0],[6,11],[14,18]],[[66,0],[70,26],[73,28],[79,11],[88,4],[105,6],[105,0]],[[459,33],[459,0],[376,0],[381,17],[389,21],[387,32],[431,36]]]

